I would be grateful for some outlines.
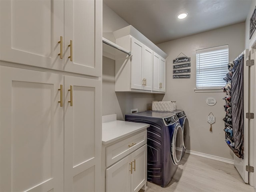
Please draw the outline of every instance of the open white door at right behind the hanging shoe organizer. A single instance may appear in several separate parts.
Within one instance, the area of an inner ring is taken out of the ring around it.
[[[234,166],[243,178],[245,183],[248,183],[248,172],[246,165],[249,161],[249,120],[246,119],[246,113],[249,111],[249,67],[246,66],[246,60],[249,60],[248,49],[244,50],[244,158],[238,158],[234,154]]]

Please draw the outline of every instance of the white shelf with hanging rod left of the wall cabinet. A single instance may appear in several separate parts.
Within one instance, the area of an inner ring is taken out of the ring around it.
[[[131,52],[112,41],[102,37],[102,55],[116,60],[118,58],[125,58],[131,55]]]

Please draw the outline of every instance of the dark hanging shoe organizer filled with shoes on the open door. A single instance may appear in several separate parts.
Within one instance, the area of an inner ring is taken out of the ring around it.
[[[228,63],[228,73],[224,80],[227,82],[222,89],[226,96],[224,117],[226,143],[238,158],[243,158],[244,153],[244,98],[243,98],[243,74],[244,55],[237,60]]]

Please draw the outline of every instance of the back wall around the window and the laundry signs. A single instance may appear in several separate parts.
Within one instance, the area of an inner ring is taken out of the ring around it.
[[[222,158],[233,158],[233,153],[224,141],[223,92],[194,92],[196,88],[196,50],[220,45],[229,45],[229,60],[232,61],[244,50],[245,24],[236,24],[178,40],[158,44],[168,54],[166,60],[166,94],[164,101],[176,100],[177,108],[183,109],[190,124],[190,150]],[[180,53],[191,57],[191,78],[172,79],[172,60]],[[208,106],[206,98],[214,97],[216,105]],[[156,97],[160,100],[161,97]],[[207,116],[212,112],[216,118],[209,131]]]

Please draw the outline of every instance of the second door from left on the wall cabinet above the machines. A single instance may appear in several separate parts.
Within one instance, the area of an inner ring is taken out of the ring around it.
[[[144,62],[143,62],[143,76],[144,90],[152,90],[152,67],[153,67],[153,51],[144,45]]]

